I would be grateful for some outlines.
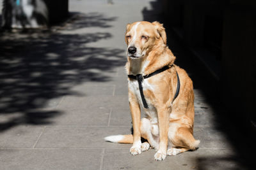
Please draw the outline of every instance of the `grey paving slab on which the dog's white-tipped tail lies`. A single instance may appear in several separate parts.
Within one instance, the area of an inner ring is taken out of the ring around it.
[[[130,148],[104,141],[115,134],[131,134],[131,127],[45,127],[36,148]]]

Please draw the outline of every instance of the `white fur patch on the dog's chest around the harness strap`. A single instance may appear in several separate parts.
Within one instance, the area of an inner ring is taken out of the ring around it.
[[[144,79],[141,85],[143,87],[143,91],[150,90],[154,92],[154,85],[150,84],[147,79]],[[148,108],[143,107],[138,81],[128,81],[128,87],[129,90],[131,90],[132,93],[136,95],[141,108],[143,108],[144,111],[147,113],[148,117],[150,117],[151,122],[157,122],[156,108],[154,107],[154,104],[152,104],[152,101],[150,101],[150,99],[147,96],[145,96],[145,99],[147,101]]]

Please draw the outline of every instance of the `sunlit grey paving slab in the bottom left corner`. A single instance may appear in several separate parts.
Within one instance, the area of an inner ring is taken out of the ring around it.
[[[100,169],[102,149],[0,150],[0,169]]]

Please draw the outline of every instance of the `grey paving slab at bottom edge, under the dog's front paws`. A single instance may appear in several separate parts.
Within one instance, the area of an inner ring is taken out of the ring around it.
[[[199,148],[193,152],[168,156],[163,162],[154,160],[154,150],[132,156],[127,150],[106,149],[103,169],[239,169],[243,167],[230,149]],[[214,163],[213,163],[214,162]]]

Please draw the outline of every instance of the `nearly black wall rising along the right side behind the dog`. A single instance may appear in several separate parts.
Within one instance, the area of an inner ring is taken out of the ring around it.
[[[237,117],[256,122],[256,1],[162,0],[165,20],[189,49],[220,67],[221,101]]]

